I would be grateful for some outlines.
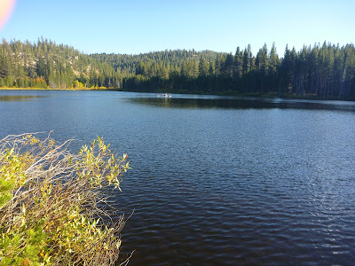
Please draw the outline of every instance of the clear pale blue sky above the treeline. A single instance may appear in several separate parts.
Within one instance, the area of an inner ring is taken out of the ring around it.
[[[0,0],[13,1],[13,0]],[[38,37],[86,53],[172,49],[253,54],[276,43],[355,43],[355,0],[17,0],[0,38]]]

